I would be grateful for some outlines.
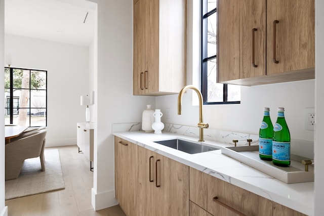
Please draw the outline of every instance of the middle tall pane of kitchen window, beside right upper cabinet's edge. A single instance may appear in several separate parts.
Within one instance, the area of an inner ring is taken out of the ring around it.
[[[217,15],[212,14],[207,18],[207,56],[215,56],[217,51]]]

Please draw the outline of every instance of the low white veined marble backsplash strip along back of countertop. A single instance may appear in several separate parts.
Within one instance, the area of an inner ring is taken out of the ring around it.
[[[141,122],[114,123],[112,133],[126,131],[142,131]],[[199,138],[199,129],[194,126],[165,123],[162,131],[179,134],[188,137]],[[218,129],[204,129],[204,139],[209,141],[226,143],[233,145],[233,140],[239,140],[237,145],[248,145],[247,139],[252,139],[251,145],[259,145],[259,135],[221,131]],[[301,155],[310,159],[314,158],[314,143],[310,141],[291,140],[291,153]]]

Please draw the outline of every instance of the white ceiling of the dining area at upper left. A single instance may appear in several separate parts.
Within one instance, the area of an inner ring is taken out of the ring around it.
[[[89,46],[95,8],[86,0],[5,0],[5,33]]]

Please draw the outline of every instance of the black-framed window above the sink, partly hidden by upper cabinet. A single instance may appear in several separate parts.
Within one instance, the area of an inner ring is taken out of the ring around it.
[[[204,104],[239,104],[239,85],[217,83],[217,2],[201,0],[201,93]]]

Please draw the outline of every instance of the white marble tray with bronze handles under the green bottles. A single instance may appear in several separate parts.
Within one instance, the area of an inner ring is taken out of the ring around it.
[[[222,154],[243,162],[265,174],[285,182],[286,184],[313,182],[314,166],[309,165],[308,171],[301,163],[302,160],[309,160],[298,155],[291,155],[291,164],[289,167],[280,167],[272,164],[272,161],[261,160],[259,158],[259,146],[231,146],[224,147]]]

